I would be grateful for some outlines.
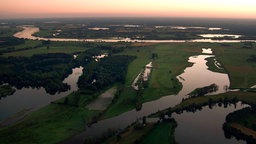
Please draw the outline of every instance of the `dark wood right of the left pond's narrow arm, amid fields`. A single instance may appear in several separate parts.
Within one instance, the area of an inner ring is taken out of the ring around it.
[[[78,87],[84,90],[97,91],[116,82],[125,82],[128,64],[134,56],[116,55],[91,61],[84,69],[84,74],[78,80]]]

